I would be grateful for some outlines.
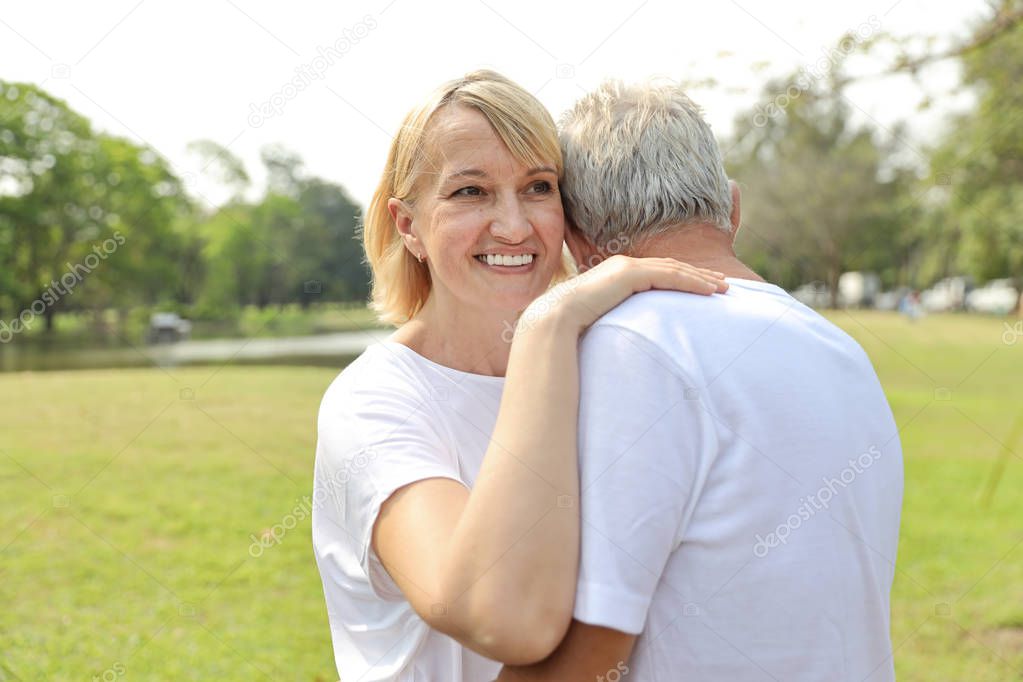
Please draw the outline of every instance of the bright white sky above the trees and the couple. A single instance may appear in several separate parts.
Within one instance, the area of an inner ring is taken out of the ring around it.
[[[801,65],[822,73],[847,32],[936,35],[940,48],[984,9],[980,0],[20,2],[0,10],[0,79],[42,85],[100,129],[151,145],[208,201],[224,190],[186,149],[204,138],[239,155],[257,190],[259,149],[280,143],[365,204],[407,109],[473,69],[513,78],[555,118],[608,77],[712,78],[718,85],[691,95],[721,139],[768,77]],[[295,80],[308,86],[287,87]],[[946,95],[953,62],[928,69],[925,83],[942,98],[924,112],[906,78],[849,92],[862,121],[890,129],[913,120],[902,145],[910,160],[964,103]],[[271,100],[275,111],[255,113]]]

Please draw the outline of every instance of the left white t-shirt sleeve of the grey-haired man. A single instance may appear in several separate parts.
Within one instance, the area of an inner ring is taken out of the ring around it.
[[[592,328],[579,362],[582,527],[574,615],[639,634],[716,436],[700,387],[635,332]]]

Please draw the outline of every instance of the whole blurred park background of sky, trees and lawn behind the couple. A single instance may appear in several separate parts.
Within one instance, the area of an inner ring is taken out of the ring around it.
[[[1023,3],[131,0],[0,10],[0,680],[337,679],[309,495],[389,333],[360,213],[478,67],[555,118],[687,85],[740,257],[899,423],[899,678],[1023,679]]]

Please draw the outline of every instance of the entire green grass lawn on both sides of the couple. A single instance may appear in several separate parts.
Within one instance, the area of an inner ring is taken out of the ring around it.
[[[975,317],[832,318],[902,429],[899,679],[1023,679],[1023,336]],[[0,375],[0,680],[335,680],[309,519],[249,552],[310,492],[335,374]]]

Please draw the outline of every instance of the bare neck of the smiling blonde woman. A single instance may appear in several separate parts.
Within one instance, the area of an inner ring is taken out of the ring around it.
[[[431,295],[392,339],[445,367],[504,376],[518,318],[518,312],[445,306]]]

